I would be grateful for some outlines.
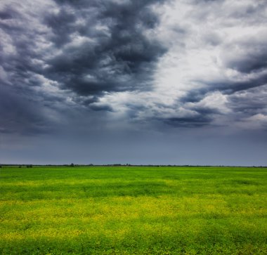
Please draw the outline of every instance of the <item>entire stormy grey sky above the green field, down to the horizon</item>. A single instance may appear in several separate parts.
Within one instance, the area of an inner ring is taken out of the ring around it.
[[[0,163],[267,165],[267,2],[1,0]]]

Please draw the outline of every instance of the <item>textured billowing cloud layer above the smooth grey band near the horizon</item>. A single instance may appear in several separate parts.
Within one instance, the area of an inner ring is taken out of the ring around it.
[[[250,0],[1,1],[0,132],[266,130],[266,18]]]

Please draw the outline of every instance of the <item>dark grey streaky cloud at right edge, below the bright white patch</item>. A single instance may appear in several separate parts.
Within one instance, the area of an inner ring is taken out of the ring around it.
[[[233,114],[231,114],[235,121],[238,121],[240,118],[252,117],[260,113],[267,114],[266,84],[266,74],[259,75],[253,79],[247,79],[246,81],[226,80],[211,84],[206,82],[206,87],[190,91],[186,96],[179,99],[179,102],[185,104],[186,109],[193,110],[195,115],[188,115],[188,117],[171,117],[167,119],[166,123],[172,126],[185,127],[212,124],[216,117],[220,118],[224,113],[221,112],[219,108],[204,106],[201,102],[211,93],[217,92],[228,98],[226,107],[235,112],[234,117]],[[188,103],[192,103],[192,105],[190,107],[186,106]]]

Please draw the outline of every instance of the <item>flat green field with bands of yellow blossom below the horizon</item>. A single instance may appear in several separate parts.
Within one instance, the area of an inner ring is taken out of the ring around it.
[[[0,254],[267,254],[266,168],[0,173]]]

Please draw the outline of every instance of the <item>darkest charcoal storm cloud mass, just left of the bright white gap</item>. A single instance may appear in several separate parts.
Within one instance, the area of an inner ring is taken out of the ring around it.
[[[72,35],[89,40],[65,46],[47,61],[45,76],[83,96],[148,90],[153,65],[165,51],[144,34],[157,24],[149,8],[155,2],[58,1],[59,13],[44,18],[53,31],[51,41],[63,46]],[[75,23],[79,18],[82,22]]]

